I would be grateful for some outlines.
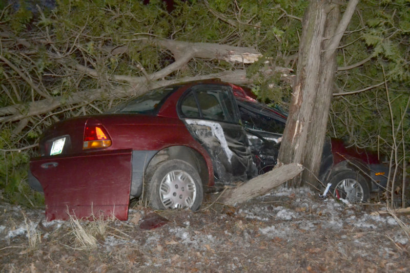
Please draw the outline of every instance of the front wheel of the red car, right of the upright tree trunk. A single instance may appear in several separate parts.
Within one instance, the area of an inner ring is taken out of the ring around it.
[[[332,183],[331,193],[337,199],[343,198],[350,203],[359,203],[366,202],[370,196],[366,179],[353,170],[332,174],[329,182]]]

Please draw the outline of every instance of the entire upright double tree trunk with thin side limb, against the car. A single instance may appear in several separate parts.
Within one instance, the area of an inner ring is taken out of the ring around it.
[[[279,162],[301,163],[302,176],[293,186],[317,175],[336,73],[336,49],[359,0],[340,11],[331,1],[312,0],[303,18],[297,74],[288,121],[279,150]]]

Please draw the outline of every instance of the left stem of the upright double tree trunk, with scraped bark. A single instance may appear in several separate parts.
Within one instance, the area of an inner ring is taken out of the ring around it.
[[[296,79],[288,120],[283,132],[278,161],[303,164],[303,151],[308,140],[309,122],[313,115],[317,82],[320,80],[320,53],[326,15],[319,1],[311,1],[303,18]],[[292,180],[299,186],[301,177]]]

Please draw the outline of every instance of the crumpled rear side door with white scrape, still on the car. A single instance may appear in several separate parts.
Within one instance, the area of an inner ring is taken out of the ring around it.
[[[178,112],[192,136],[210,154],[217,181],[246,181],[257,175],[230,87],[195,86],[181,97]]]

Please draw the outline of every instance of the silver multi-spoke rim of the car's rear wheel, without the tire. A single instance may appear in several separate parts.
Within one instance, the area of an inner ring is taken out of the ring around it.
[[[166,208],[190,208],[196,198],[195,182],[185,171],[171,171],[162,178],[159,195]]]

